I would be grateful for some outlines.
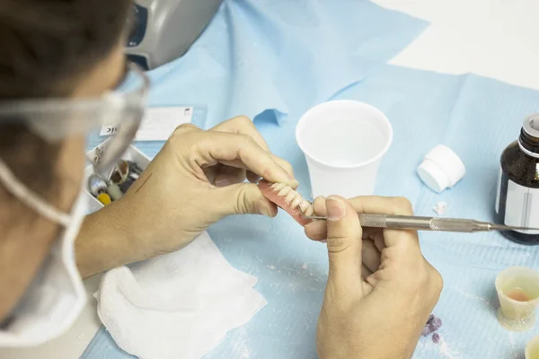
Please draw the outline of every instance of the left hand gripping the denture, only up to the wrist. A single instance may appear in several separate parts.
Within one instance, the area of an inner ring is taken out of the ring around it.
[[[296,188],[292,167],[270,153],[249,118],[203,131],[178,127],[122,199],[137,218],[148,255],[178,250],[226,215],[277,215],[253,184],[260,178]],[[252,183],[243,183],[245,179]]]

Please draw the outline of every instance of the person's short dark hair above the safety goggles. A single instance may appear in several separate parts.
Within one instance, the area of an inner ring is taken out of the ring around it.
[[[106,57],[128,0],[0,0],[0,99],[65,95]]]

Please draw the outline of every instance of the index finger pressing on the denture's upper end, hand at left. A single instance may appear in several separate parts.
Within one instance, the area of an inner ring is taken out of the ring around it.
[[[281,182],[292,187],[297,184],[251,136],[207,131],[198,136],[194,146],[203,162],[241,166],[270,182]]]

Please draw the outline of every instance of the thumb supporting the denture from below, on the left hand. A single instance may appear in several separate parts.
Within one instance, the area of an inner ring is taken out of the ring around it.
[[[277,215],[277,206],[264,197],[254,183],[238,183],[215,188],[215,191],[214,200],[221,208],[221,215]]]

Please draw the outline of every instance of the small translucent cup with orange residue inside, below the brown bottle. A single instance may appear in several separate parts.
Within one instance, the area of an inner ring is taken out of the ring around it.
[[[512,331],[533,328],[535,307],[539,303],[539,272],[526,267],[509,267],[499,273],[495,285],[499,324]]]

